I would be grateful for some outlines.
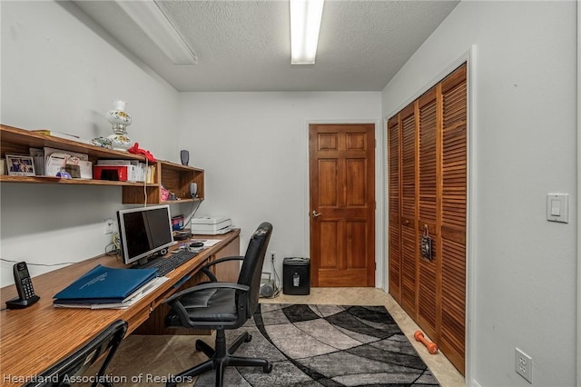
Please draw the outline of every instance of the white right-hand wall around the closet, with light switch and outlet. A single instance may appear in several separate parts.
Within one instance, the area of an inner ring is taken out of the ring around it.
[[[384,117],[476,46],[468,384],[576,384],[576,4],[464,1],[382,93]],[[570,222],[546,220],[569,193]]]

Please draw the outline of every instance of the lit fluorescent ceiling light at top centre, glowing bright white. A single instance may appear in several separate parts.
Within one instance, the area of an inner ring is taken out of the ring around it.
[[[324,0],[291,1],[291,65],[313,65]]]

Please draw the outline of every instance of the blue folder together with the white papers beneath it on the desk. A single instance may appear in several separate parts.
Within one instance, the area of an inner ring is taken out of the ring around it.
[[[123,309],[167,281],[156,269],[114,269],[97,265],[54,295],[63,308]]]

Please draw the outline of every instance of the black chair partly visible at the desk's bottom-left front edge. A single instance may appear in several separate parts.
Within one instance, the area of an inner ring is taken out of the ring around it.
[[[94,375],[93,387],[103,384],[105,387],[113,387],[110,379],[104,376],[105,369],[113,359],[119,344],[127,332],[127,322],[117,320],[99,333],[93,340],[84,344],[78,351],[57,362],[51,368],[40,373],[34,382],[29,382],[25,387],[64,387],[69,386],[66,381],[73,380],[74,376],[82,375],[94,362],[107,353],[99,372]]]

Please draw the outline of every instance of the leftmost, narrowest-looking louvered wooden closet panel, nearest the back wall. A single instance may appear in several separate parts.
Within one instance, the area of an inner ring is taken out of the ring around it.
[[[401,303],[401,226],[399,211],[399,119],[388,122],[388,159],[389,159],[389,294]]]

